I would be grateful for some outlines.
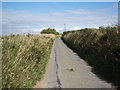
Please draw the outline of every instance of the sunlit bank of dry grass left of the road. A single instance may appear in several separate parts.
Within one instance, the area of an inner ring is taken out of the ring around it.
[[[2,44],[3,88],[32,88],[45,72],[56,36],[10,35]]]

